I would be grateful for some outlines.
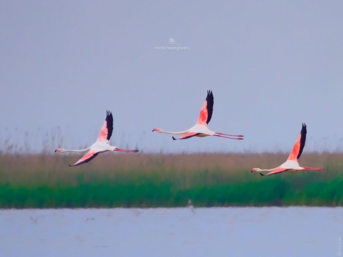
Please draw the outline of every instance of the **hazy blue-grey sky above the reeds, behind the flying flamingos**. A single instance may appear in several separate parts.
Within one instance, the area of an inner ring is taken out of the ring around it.
[[[342,13],[341,0],[1,1],[0,148],[25,131],[32,151],[90,145],[108,109],[120,148],[290,151],[306,122],[304,152],[343,149]],[[170,37],[189,50],[153,49]],[[193,126],[208,89],[209,128],[245,140],[152,132]]]

